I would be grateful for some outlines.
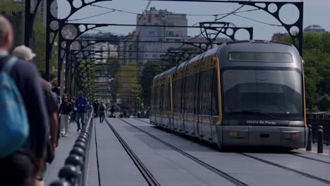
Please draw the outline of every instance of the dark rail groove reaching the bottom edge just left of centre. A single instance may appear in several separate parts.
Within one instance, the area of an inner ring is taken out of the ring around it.
[[[134,162],[135,166],[138,168],[140,173],[142,174],[143,178],[147,181],[147,184],[149,186],[160,186],[159,182],[154,178],[154,175],[150,173],[150,171],[147,169],[147,167],[142,163],[142,161],[138,158],[138,156],[134,153],[132,149],[128,146],[128,144],[123,140],[123,137],[118,134],[116,129],[109,123],[108,120],[105,120],[106,124],[109,125],[109,128],[111,129],[112,132],[114,132],[114,135],[117,137],[118,141],[121,143],[123,148],[125,149],[126,153],[128,156],[130,156],[130,159]]]

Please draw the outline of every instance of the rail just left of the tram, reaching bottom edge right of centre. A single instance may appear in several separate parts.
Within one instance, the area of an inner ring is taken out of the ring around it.
[[[173,145],[169,144],[168,142],[165,142],[164,140],[159,139],[158,137],[150,134],[149,132],[146,132],[145,130],[140,129],[140,128],[136,127],[135,125],[132,125],[131,123],[128,123],[126,120],[123,120],[123,119],[120,119],[120,120],[122,120],[124,123],[132,126],[133,128],[135,128],[137,130],[140,130],[141,132],[144,132],[146,135],[149,135],[149,137],[152,137],[154,140],[157,140],[158,142],[161,142],[166,147],[169,147],[169,148],[173,149],[174,151],[177,151],[178,153],[182,154],[183,156],[187,157],[188,159],[191,159],[195,163],[200,164],[200,166],[203,166],[204,168],[207,168],[209,171],[212,171],[213,173],[216,173],[216,175],[221,176],[222,178],[228,180],[229,182],[232,182],[234,185],[247,186],[246,183],[241,182],[240,180],[238,180],[236,178],[233,178],[231,175],[228,175],[227,173],[224,173],[223,171],[220,171],[218,168],[215,168],[214,166],[211,166],[208,163],[205,163],[204,161],[201,161],[200,159],[197,159],[195,156],[192,156],[192,155],[186,153],[185,151],[182,151],[181,149],[178,149],[178,148],[174,147]],[[143,120],[140,120],[140,121],[143,121]]]

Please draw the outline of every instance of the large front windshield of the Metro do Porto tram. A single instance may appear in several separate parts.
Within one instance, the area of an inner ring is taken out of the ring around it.
[[[295,70],[225,70],[226,116],[303,116],[302,78]]]

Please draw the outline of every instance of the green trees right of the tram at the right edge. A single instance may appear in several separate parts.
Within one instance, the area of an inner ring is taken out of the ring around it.
[[[305,61],[305,91],[308,111],[329,111],[330,33],[304,33],[302,58]],[[284,42],[291,42],[286,35]],[[292,43],[292,42],[291,42]]]

